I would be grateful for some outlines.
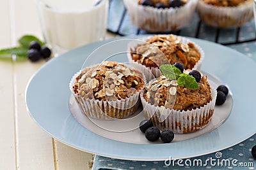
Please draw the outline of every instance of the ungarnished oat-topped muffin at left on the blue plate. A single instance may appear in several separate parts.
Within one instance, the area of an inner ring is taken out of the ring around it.
[[[75,74],[70,81],[70,90],[88,117],[101,120],[125,118],[140,105],[143,79],[143,74],[136,69],[104,61]]]

